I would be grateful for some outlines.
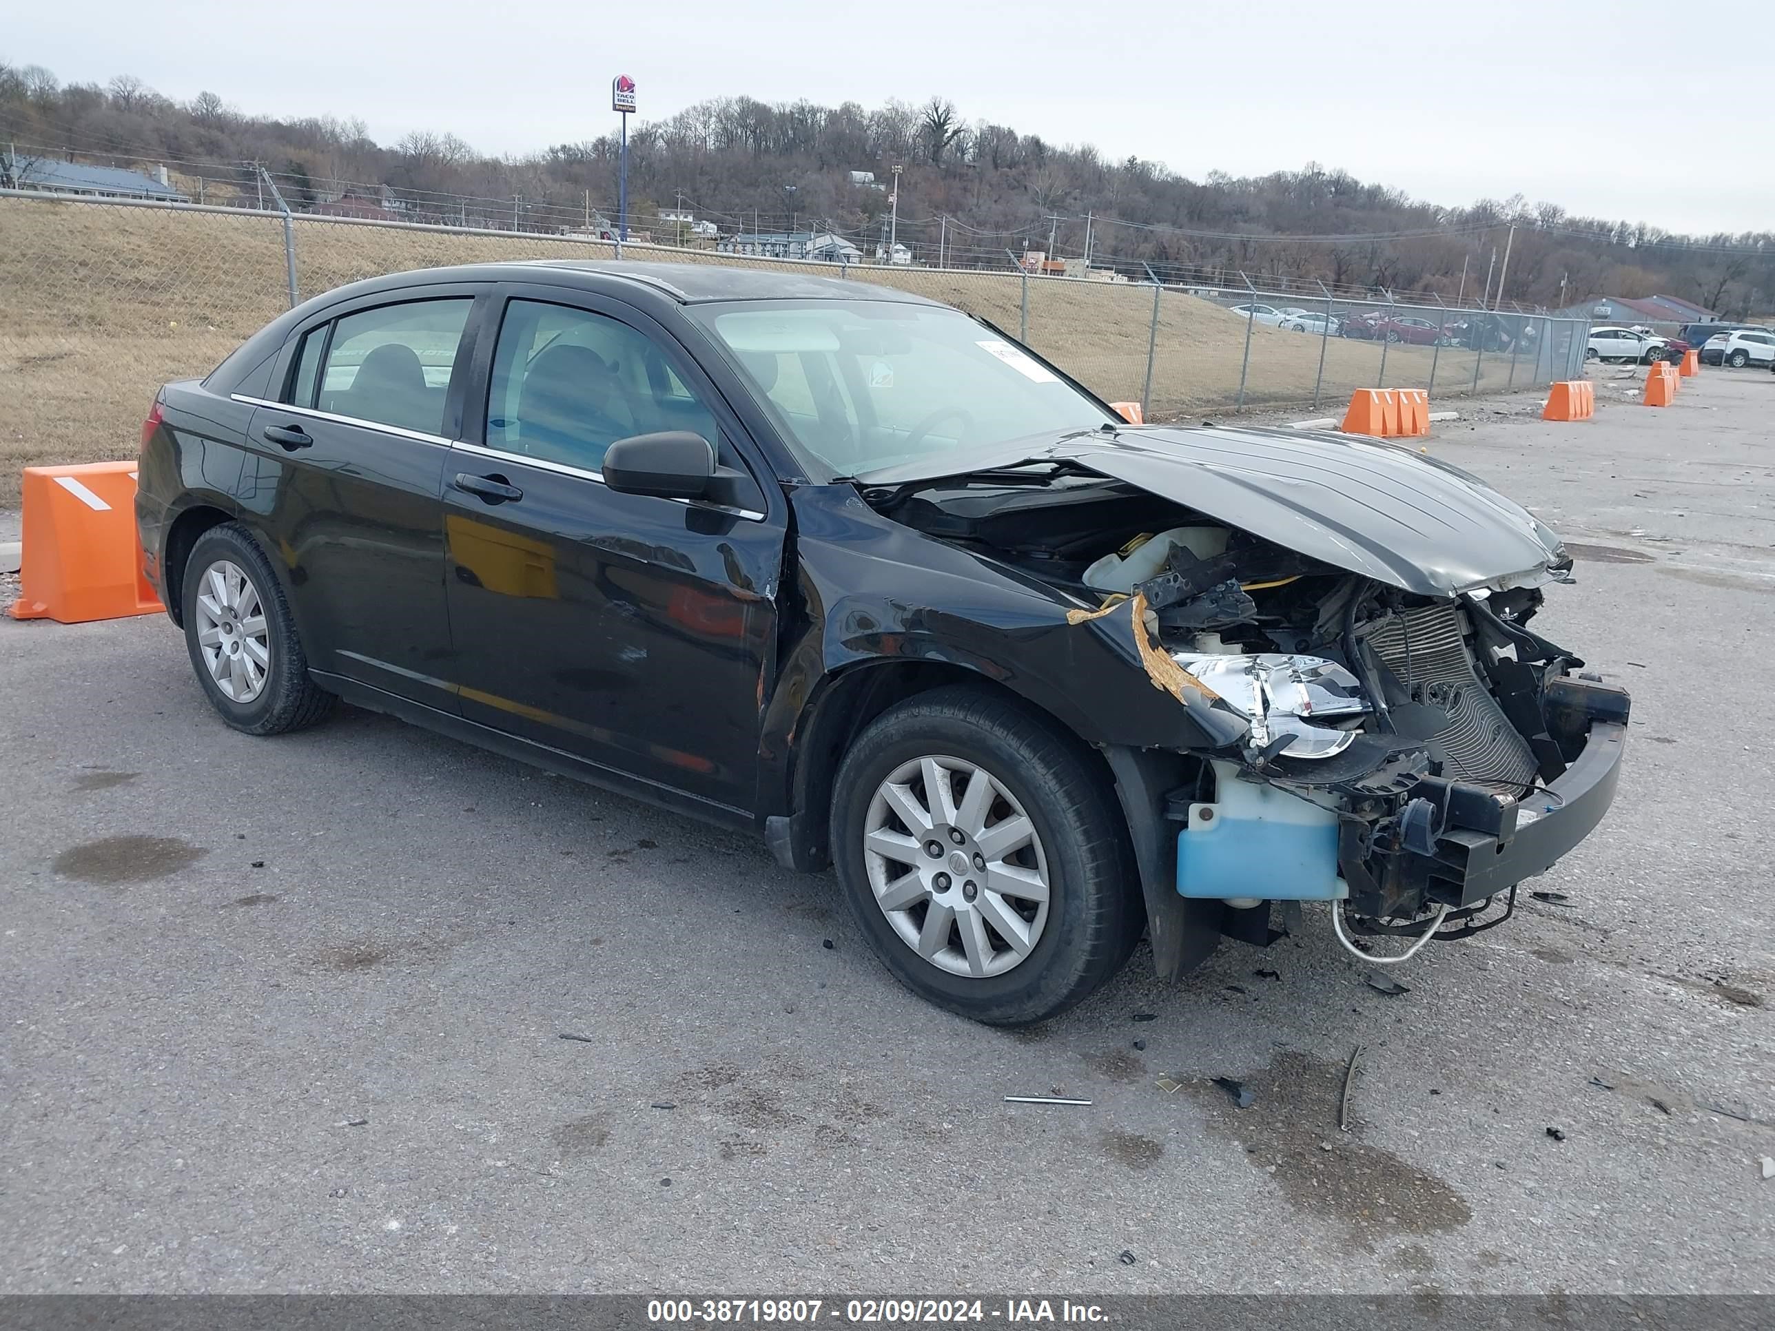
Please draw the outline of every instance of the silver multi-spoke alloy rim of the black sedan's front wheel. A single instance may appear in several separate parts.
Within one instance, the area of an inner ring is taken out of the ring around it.
[[[1005,974],[1042,941],[1042,839],[1010,790],[976,763],[925,756],[896,767],[870,800],[863,859],[895,933],[941,971]]]

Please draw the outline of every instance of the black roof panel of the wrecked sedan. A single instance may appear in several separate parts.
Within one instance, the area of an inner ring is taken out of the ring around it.
[[[728,263],[643,263],[634,259],[520,259],[508,263],[424,268],[387,279],[389,287],[430,282],[545,282],[588,287],[602,280],[632,282],[671,296],[680,305],[714,300],[891,300],[907,305],[939,305],[875,282],[848,282],[838,277],[783,272],[776,268],[740,268]]]

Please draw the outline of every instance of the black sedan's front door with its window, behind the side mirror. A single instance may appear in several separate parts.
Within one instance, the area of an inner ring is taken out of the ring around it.
[[[751,811],[785,543],[776,483],[724,509],[604,484],[612,440],[694,429],[749,461],[738,419],[621,302],[513,286],[488,316],[444,477],[463,715]]]

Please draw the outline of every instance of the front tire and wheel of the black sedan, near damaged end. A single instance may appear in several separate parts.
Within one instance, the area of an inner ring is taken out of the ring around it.
[[[928,815],[925,774],[934,768],[953,813],[941,807],[930,818],[928,839],[909,836],[927,829],[902,809]],[[976,772],[989,788],[971,800]],[[974,816],[969,806],[982,813]],[[1019,811],[1033,838],[1012,850]],[[889,854],[873,848],[888,839]],[[941,854],[928,857],[930,847]],[[1122,969],[1145,925],[1108,776],[1049,722],[967,687],[911,697],[850,745],[832,792],[832,864],[882,965],[928,1003],[989,1026],[1030,1026],[1067,1012]],[[877,898],[880,891],[896,900],[891,889],[907,880],[898,894],[907,905]],[[1012,887],[994,893],[989,880]],[[1031,891],[1045,884],[1045,905],[1019,896],[1021,884]],[[939,905],[953,914],[943,918],[935,939],[930,923]],[[1001,928],[994,921],[1006,919],[1006,910],[1017,919]],[[921,949],[927,932],[934,942]]]

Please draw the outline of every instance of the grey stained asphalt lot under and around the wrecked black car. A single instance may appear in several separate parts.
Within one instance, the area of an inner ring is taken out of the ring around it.
[[[1775,380],[1599,398],[1432,447],[1583,543],[1541,626],[1635,690],[1619,802],[1399,997],[1310,912],[971,1026],[747,838],[0,623],[0,1290],[1768,1292]]]

